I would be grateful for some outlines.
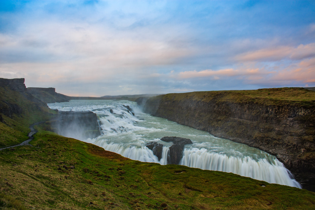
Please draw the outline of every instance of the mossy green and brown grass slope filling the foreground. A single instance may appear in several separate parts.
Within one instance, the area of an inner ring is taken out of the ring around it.
[[[315,193],[307,190],[133,161],[47,131],[31,144],[0,151],[0,193],[16,209],[315,208]]]

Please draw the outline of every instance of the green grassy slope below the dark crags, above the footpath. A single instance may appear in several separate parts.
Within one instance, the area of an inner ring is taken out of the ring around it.
[[[7,106],[3,102],[6,101],[22,109],[20,114],[13,114],[12,118],[0,113],[5,122],[0,122],[0,147],[19,144],[28,139],[27,134],[31,124],[48,120],[55,113],[45,105],[26,99],[26,96],[26,94],[0,87],[0,106]]]

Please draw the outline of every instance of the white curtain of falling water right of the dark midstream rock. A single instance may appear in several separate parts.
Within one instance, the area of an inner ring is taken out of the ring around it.
[[[266,159],[256,161],[249,156],[240,158],[208,152],[205,148],[192,148],[184,150],[180,165],[204,170],[235,173],[241,176],[263,180],[268,183],[301,188],[301,185],[297,181],[290,178],[292,174],[278,160],[274,160],[272,164],[270,164]]]

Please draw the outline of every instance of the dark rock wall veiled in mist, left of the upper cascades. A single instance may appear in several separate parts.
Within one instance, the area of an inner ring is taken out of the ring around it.
[[[97,116],[91,111],[58,111],[51,125],[54,132],[74,139],[84,140],[100,135]]]

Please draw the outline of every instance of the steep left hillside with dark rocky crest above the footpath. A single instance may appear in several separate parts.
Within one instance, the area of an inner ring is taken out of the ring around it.
[[[54,113],[44,102],[26,92],[23,78],[0,78],[0,146],[28,139],[29,125],[49,120]]]

